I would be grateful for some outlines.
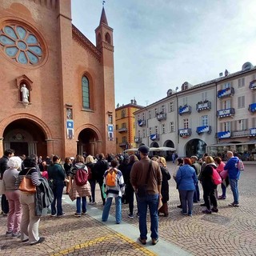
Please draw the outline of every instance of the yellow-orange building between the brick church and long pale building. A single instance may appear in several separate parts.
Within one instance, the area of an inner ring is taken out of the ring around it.
[[[135,138],[135,118],[134,112],[142,109],[136,100],[132,99],[130,104],[118,106],[115,110],[116,123],[116,152],[122,153],[123,150],[134,148]],[[111,152],[110,152],[111,153]]]

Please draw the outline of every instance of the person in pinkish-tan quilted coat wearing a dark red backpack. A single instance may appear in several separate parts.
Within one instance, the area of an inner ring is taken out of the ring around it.
[[[85,158],[82,155],[77,155],[75,164],[70,169],[70,177],[74,178],[70,188],[70,199],[76,201],[77,210],[74,213],[75,217],[81,217],[81,214],[86,214],[86,197],[91,196],[90,182],[88,181],[89,171],[85,164]],[[82,201],[82,210],[81,210]]]

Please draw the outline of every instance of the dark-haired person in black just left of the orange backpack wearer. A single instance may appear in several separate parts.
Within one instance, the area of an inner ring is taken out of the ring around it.
[[[106,202],[106,198],[104,197],[104,194],[102,192],[103,175],[105,174],[106,170],[108,170],[108,169],[109,169],[109,164],[105,160],[104,154],[98,154],[98,161],[94,165],[94,172],[96,175],[96,179],[97,179],[99,188],[101,190],[103,206],[105,206],[105,202]]]

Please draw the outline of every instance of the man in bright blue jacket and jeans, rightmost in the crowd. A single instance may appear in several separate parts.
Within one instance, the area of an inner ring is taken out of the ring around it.
[[[238,170],[239,158],[234,157],[234,154],[231,151],[227,151],[226,156],[229,160],[226,162],[226,166],[224,167],[224,170],[228,171],[229,178],[230,178],[230,188],[234,196],[234,202],[232,202],[230,206],[238,207],[239,206],[238,179],[240,178],[240,170]]]

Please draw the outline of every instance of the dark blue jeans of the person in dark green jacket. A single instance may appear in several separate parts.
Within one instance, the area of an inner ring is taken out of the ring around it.
[[[64,188],[64,182],[54,181],[54,201],[51,203],[51,214],[56,214],[56,201],[57,201],[57,215],[62,215],[62,193]]]

